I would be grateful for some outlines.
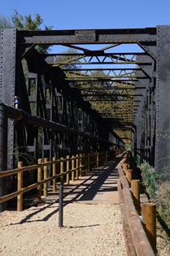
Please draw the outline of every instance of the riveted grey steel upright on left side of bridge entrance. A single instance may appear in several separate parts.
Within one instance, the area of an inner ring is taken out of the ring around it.
[[[15,55],[16,29],[0,29],[0,102],[14,107],[15,101]],[[8,120],[7,162],[13,167],[13,156],[10,152],[14,146],[14,121]]]

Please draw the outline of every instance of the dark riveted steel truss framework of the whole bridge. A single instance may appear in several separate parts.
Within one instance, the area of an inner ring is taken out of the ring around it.
[[[1,30],[0,101],[82,134],[9,120],[8,148],[37,157],[124,148],[166,173],[170,26],[146,29]],[[54,46],[41,54],[37,46]],[[59,46],[76,51],[61,52]],[[25,78],[26,77],[26,78]],[[99,139],[98,139],[99,138]],[[23,150],[23,149],[22,149]],[[22,151],[21,150],[21,151]],[[13,166],[8,157],[8,168]]]

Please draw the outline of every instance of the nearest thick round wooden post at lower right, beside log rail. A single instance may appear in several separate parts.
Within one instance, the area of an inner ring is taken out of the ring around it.
[[[146,236],[156,254],[156,204],[142,203],[142,217]]]

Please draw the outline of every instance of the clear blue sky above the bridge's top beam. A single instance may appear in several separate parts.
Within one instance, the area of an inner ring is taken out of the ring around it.
[[[169,0],[0,0],[0,13],[11,17],[39,13],[54,29],[146,28],[170,24]]]

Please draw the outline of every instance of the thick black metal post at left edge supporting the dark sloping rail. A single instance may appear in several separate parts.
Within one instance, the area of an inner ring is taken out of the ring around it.
[[[0,103],[0,172],[7,170],[7,108]],[[0,179],[0,196],[7,195],[7,178]],[[7,209],[7,203],[0,204],[0,212]]]

